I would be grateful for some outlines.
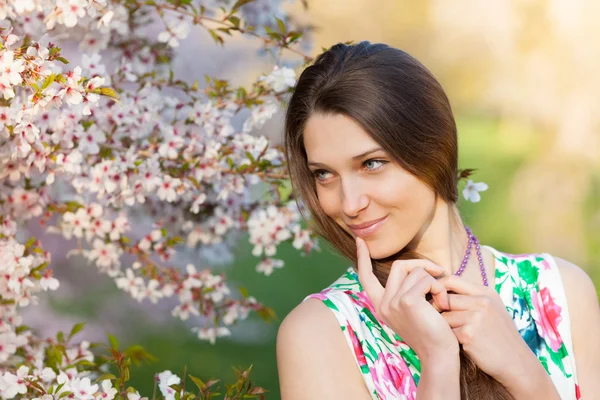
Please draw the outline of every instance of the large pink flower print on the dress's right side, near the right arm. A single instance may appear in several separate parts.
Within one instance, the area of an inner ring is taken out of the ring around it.
[[[541,289],[539,293],[532,290],[531,302],[536,311],[534,319],[538,331],[552,351],[558,351],[562,346],[562,339],[558,334],[558,324],[562,320],[561,307],[554,302],[548,288]]]

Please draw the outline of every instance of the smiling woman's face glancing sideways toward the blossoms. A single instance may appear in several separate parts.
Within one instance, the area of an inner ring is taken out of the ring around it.
[[[435,210],[435,193],[351,118],[312,115],[304,146],[323,211],[363,238],[372,258],[395,254],[421,236]]]

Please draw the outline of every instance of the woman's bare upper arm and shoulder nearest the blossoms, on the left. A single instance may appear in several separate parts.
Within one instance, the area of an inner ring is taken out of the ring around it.
[[[281,323],[277,368],[282,400],[371,399],[335,316],[317,299]]]

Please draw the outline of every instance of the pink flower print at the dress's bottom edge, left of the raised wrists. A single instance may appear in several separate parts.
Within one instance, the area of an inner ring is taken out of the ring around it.
[[[381,400],[415,398],[417,392],[415,381],[399,355],[379,353],[370,372],[375,390]]]

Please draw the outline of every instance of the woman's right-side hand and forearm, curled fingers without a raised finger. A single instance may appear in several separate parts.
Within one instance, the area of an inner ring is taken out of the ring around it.
[[[523,377],[527,377],[527,385],[536,377],[540,378],[536,382],[552,385],[493,288],[474,285],[454,275],[438,282],[455,293],[448,295],[450,310],[441,316],[479,368],[515,393],[520,391],[517,386]]]

